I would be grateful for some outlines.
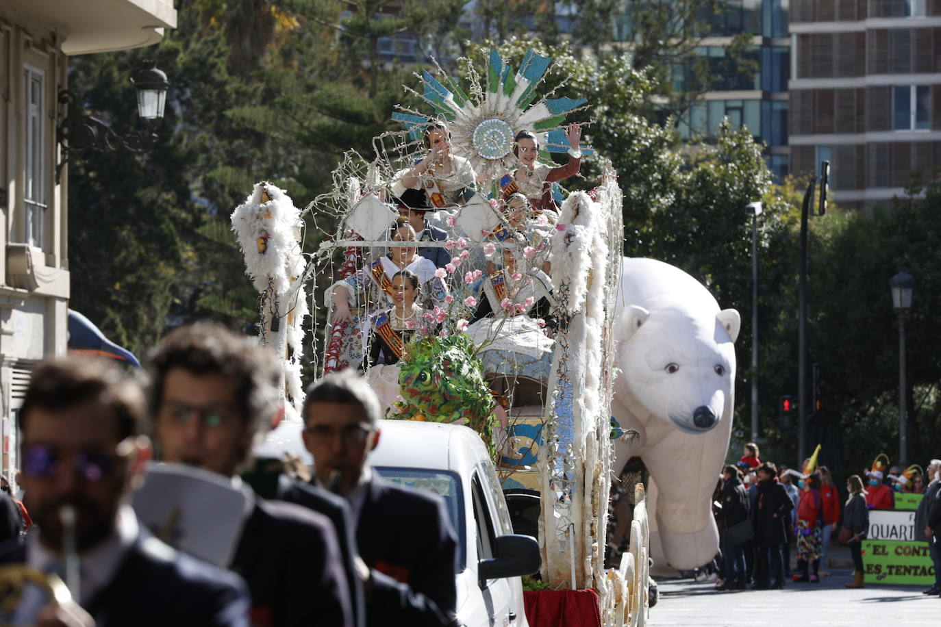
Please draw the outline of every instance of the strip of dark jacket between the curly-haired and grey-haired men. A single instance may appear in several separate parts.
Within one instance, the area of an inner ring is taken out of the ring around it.
[[[336,532],[340,553],[343,556],[343,571],[346,574],[350,601],[353,605],[354,624],[357,627],[363,627],[366,624],[366,613],[363,605],[362,582],[353,565],[353,558],[359,556],[359,550],[356,539],[353,537],[353,521],[350,518],[350,510],[346,506],[346,499],[311,483],[290,480],[281,483],[279,498],[324,514],[333,523],[333,530]]]

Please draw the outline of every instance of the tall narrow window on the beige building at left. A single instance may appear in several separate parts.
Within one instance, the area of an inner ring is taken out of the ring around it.
[[[26,243],[43,247],[46,221],[45,74],[31,66],[23,72],[26,139],[24,204]]]

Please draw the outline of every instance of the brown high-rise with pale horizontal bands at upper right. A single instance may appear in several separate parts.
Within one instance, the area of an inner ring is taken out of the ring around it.
[[[941,0],[791,0],[790,166],[847,208],[941,166]]]

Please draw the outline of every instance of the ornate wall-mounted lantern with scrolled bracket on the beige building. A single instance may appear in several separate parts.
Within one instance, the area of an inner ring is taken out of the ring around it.
[[[56,141],[62,147],[62,156],[56,165],[56,184],[61,178],[62,168],[74,153],[88,149],[125,149],[139,153],[152,149],[157,138],[155,126],[164,117],[167,104],[167,74],[157,69],[153,61],[144,61],[144,67],[136,71],[131,82],[137,92],[137,114],[144,120],[145,128],[121,136],[99,118],[74,116],[62,119],[56,128]],[[68,105],[74,100],[71,91],[59,91],[58,102]]]

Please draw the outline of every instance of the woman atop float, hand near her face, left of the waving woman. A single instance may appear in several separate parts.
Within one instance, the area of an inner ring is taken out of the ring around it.
[[[428,154],[396,175],[392,194],[402,196],[406,189],[421,189],[437,209],[463,205],[477,185],[470,161],[451,153],[451,133],[444,122],[428,124],[423,141]]]

